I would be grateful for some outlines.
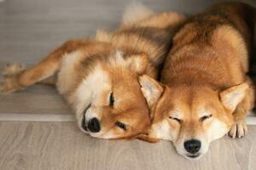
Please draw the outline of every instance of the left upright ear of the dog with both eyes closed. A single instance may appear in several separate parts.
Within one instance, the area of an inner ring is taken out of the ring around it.
[[[143,75],[139,77],[139,83],[142,86],[142,92],[144,98],[148,102],[148,107],[151,108],[160,99],[161,94],[164,92],[164,88],[160,82],[156,82],[153,78]]]

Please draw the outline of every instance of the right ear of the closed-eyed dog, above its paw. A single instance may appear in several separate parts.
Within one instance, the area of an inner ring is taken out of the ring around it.
[[[227,88],[220,92],[220,100],[224,107],[230,111],[235,111],[236,106],[244,99],[249,88],[247,83],[241,83],[239,85]]]

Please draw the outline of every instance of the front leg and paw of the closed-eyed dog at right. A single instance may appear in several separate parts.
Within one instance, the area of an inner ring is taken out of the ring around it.
[[[247,91],[245,99],[237,105],[236,110],[233,113],[234,124],[230,128],[229,136],[233,139],[241,138],[247,134],[246,116],[249,111],[253,109],[254,105],[254,88],[251,81],[248,81],[250,88]]]

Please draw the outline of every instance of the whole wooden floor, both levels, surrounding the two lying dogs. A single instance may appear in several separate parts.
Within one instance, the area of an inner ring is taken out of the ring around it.
[[[70,38],[118,26],[127,0],[0,0],[0,70],[32,65]],[[193,14],[217,0],[142,0],[155,11]],[[253,0],[243,1],[256,5]],[[196,4],[196,5],[195,5]],[[0,77],[1,78],[1,77]],[[255,116],[254,116],[255,118]],[[93,139],[52,87],[0,95],[0,170],[256,169],[256,126],[244,139],[224,137],[199,161],[177,155],[170,142]],[[253,124],[255,120],[248,120]]]

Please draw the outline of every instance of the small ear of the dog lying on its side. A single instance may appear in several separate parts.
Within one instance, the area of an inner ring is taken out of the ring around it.
[[[127,59],[128,67],[131,71],[136,71],[141,75],[147,70],[148,56],[146,54],[132,54]]]

